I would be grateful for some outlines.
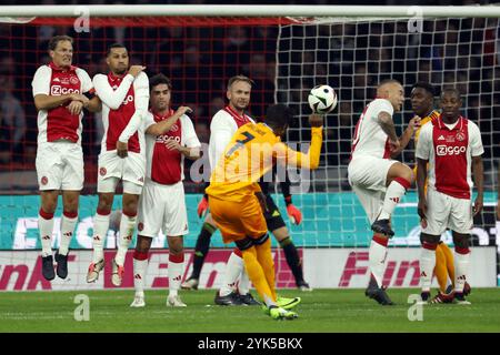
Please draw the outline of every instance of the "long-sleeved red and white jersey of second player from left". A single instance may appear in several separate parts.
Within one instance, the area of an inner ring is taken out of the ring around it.
[[[93,77],[96,92],[102,101],[101,153],[117,149],[117,141],[134,114],[146,114],[149,103],[149,80],[141,72],[136,79],[131,74],[117,77],[113,73]],[[142,131],[142,126],[139,128]],[[129,151],[143,153],[144,134],[136,132],[128,141]]]

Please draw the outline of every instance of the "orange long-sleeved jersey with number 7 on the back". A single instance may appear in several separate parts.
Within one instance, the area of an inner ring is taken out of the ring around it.
[[[260,191],[257,182],[274,163],[317,169],[321,143],[322,128],[312,128],[311,146],[308,154],[303,154],[282,143],[266,123],[247,123],[238,129],[226,146],[206,192],[209,196],[240,202]]]

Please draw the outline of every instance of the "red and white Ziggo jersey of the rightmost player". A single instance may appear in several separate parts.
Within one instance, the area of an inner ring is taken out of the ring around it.
[[[472,156],[484,152],[476,123],[460,116],[456,124],[442,115],[420,130],[416,155],[429,161],[429,187],[457,199],[470,199]]]

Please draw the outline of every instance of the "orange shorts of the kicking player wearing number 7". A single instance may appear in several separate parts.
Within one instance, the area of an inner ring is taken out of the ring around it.
[[[262,207],[254,195],[241,202],[209,196],[209,207],[226,244],[246,236],[257,239],[268,232]]]

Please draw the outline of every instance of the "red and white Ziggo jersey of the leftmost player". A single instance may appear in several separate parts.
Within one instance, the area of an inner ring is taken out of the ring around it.
[[[93,92],[92,81],[83,69],[73,65],[62,69],[53,62],[38,68],[31,85],[33,98],[38,94],[59,97]],[[80,114],[71,114],[69,104],[70,101],[50,110],[38,111],[38,144],[57,140],[81,144],[83,111]]]

